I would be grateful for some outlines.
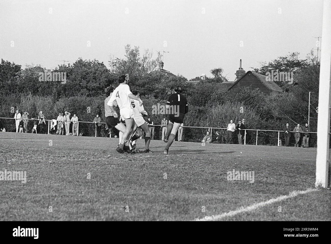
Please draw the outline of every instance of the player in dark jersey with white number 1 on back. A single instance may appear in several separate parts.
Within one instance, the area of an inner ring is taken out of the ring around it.
[[[168,154],[169,147],[176,137],[181,123],[184,123],[185,114],[188,112],[187,99],[182,95],[182,86],[175,87],[175,93],[171,94],[166,102],[166,109],[169,115],[164,142],[167,142],[164,154]]]

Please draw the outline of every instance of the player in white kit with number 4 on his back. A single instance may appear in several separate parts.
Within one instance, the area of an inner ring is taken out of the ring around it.
[[[116,148],[116,151],[118,151],[119,153],[123,153],[124,151],[126,151],[127,153],[133,153],[129,147],[129,139],[130,139],[129,136],[135,125],[134,120],[133,120],[134,112],[133,112],[133,107],[132,107],[130,99],[139,101],[140,106],[143,104],[143,101],[141,101],[140,98],[137,98],[136,96],[134,96],[132,94],[132,92],[130,91],[130,87],[127,84],[128,81],[129,81],[129,79],[125,75],[118,77],[119,85],[114,90],[111,98],[109,99],[109,101],[107,103],[107,105],[109,105],[110,109],[113,111],[114,116],[117,117],[118,114],[115,111],[115,108],[113,106],[114,101],[116,100],[118,107],[119,107],[119,114],[120,114],[122,120],[125,121],[125,126],[126,126],[125,132],[123,134],[121,143]]]

